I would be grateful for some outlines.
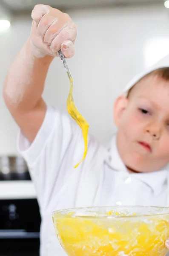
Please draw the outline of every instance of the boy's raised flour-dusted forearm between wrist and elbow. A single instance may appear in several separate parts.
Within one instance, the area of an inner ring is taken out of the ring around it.
[[[53,58],[36,58],[30,49],[30,40],[24,44],[11,64],[4,84],[4,99],[11,112],[32,110],[40,102]]]

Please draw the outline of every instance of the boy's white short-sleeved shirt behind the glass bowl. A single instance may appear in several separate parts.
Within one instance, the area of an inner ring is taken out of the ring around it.
[[[47,107],[32,144],[20,132],[18,148],[29,166],[40,205],[41,256],[61,256],[52,223],[54,210],[96,205],[167,205],[168,171],[129,174],[118,154],[115,136],[108,149],[89,136],[87,157],[74,169],[83,155],[82,133],[69,116],[54,107]]]

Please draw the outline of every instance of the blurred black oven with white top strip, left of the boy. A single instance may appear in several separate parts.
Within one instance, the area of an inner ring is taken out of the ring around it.
[[[39,256],[40,222],[28,170],[0,172],[0,256]]]

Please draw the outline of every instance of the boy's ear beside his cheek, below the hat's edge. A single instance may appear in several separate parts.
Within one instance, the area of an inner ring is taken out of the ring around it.
[[[115,120],[115,125],[118,127],[121,117],[123,115],[124,110],[127,107],[128,99],[125,96],[120,96],[116,99],[114,108],[113,108],[113,115]]]

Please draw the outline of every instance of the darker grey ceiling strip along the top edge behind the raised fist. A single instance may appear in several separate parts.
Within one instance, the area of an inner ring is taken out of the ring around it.
[[[60,9],[115,6],[129,4],[163,4],[163,0],[0,0],[0,4],[11,12],[31,11],[36,4],[48,4]]]

